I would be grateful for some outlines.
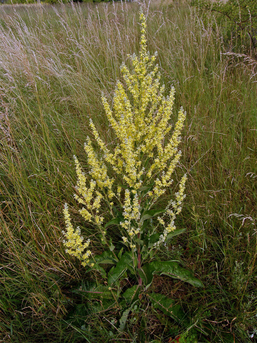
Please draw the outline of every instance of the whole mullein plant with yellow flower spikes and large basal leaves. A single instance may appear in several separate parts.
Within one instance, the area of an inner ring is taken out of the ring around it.
[[[96,296],[105,294],[105,299],[108,292],[114,296],[114,290],[122,279],[128,280],[131,286],[123,293],[115,293],[115,297],[121,298],[119,303],[125,306],[120,330],[124,329],[129,311],[138,302],[142,303],[145,297],[156,308],[163,310],[164,306],[164,312],[172,318],[187,323],[188,318],[179,305],[174,305],[171,299],[147,292],[154,274],[169,275],[196,287],[203,286],[200,280],[179,267],[177,262],[160,261],[157,255],[168,239],[185,230],[176,229],[175,218],[181,212],[185,198],[186,174],[166,207],[155,209],[155,205],[173,183],[172,174],[181,156],[178,146],[186,112],[181,107],[178,121],[174,126],[171,124],[175,89],[171,87],[169,95],[164,96],[165,87],[160,85],[159,66],[155,64],[157,52],[151,56],[147,51],[146,18],[142,10],[140,27],[139,56],[135,53],[129,56],[132,71],[125,64],[121,66],[126,87],[117,81],[112,108],[103,94],[101,97],[106,116],[117,137],[115,148],[108,149],[90,119],[90,128],[101,151],[101,158],[87,137],[84,149],[89,178],[74,156],[78,178],[74,198],[81,206],[79,213],[99,232],[106,251],[95,255],[90,239],[84,239],[79,227],[73,227],[67,204],[63,211],[66,252],[81,260],[88,271],[99,272],[106,281],[106,287],[98,286],[93,293]],[[116,178],[108,176],[110,168],[112,174],[117,175]],[[121,184],[115,184],[117,178],[122,180]],[[109,221],[101,214],[103,204],[109,208],[109,219],[112,217]],[[109,238],[111,232],[108,230],[113,225],[119,227],[117,248]],[[107,264],[113,265],[108,275],[105,269]],[[97,292],[97,289],[101,292]],[[92,290],[88,294],[91,295]],[[117,299],[115,301],[117,304]]]

